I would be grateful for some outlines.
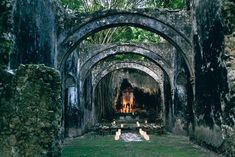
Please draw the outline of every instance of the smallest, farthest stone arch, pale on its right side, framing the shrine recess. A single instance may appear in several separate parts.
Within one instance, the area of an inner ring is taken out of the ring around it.
[[[105,63],[105,60],[102,62]],[[80,99],[81,100],[80,103],[84,105],[86,104],[85,106],[87,107],[85,108],[87,108],[87,111],[90,114],[94,112],[93,109],[95,108],[94,92],[97,84],[104,76],[106,76],[108,73],[110,73],[113,70],[122,69],[122,68],[138,69],[139,71],[142,71],[147,75],[153,77],[155,81],[159,83],[159,88],[163,92],[163,72],[154,63],[147,61],[145,61],[146,63],[144,63],[143,61],[135,61],[135,60],[129,60],[129,61],[124,60],[122,62],[114,61],[107,64],[102,64],[102,62],[100,62],[100,64],[97,65],[97,67],[94,67],[94,69],[90,73],[88,73],[86,79],[84,80],[84,82],[81,83],[80,87],[80,92],[81,92],[80,94],[82,96]],[[161,97],[161,99],[162,99],[161,103],[163,103],[164,98]],[[86,123],[90,121],[89,117],[86,117],[85,119]],[[93,119],[91,119],[91,121],[92,120]],[[94,121],[90,123],[94,123]]]

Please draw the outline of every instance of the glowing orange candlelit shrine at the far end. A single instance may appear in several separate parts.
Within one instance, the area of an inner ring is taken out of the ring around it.
[[[131,89],[126,89],[122,92],[121,98],[122,108],[120,110],[121,113],[132,113],[134,112],[134,94]]]

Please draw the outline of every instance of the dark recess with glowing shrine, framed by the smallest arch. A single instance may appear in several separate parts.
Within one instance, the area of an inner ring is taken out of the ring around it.
[[[143,122],[146,119],[155,122],[157,119],[163,119],[165,104],[162,104],[163,91],[157,82],[159,79],[156,81],[156,74],[150,76],[143,70],[147,69],[141,66],[128,68],[125,63],[119,63],[116,68],[106,70],[93,94],[97,122],[111,122],[113,119],[126,122]],[[103,99],[104,97],[106,99]]]

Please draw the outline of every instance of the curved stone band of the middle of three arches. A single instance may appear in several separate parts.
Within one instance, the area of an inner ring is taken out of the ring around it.
[[[81,65],[80,68],[80,79],[83,82],[84,79],[87,77],[88,71],[92,67],[94,67],[99,61],[104,60],[110,56],[114,56],[116,54],[125,54],[125,53],[132,53],[132,54],[139,54],[142,55],[151,61],[153,61],[155,64],[159,65],[160,68],[162,68],[163,71],[167,73],[168,76],[173,76],[173,65],[170,65],[169,62],[173,62],[174,55],[171,57],[168,57],[168,61],[166,61],[163,57],[166,57],[166,54],[169,53],[176,53],[174,52],[175,49],[169,49],[166,51],[166,49],[156,46],[156,51],[161,51],[161,54],[159,55],[156,52],[153,52],[152,50],[149,50],[147,48],[137,46],[134,44],[118,44],[111,47],[108,47],[107,49],[102,49],[95,53],[94,56],[87,57],[86,62]],[[170,52],[172,51],[172,52]],[[90,54],[90,53],[88,53]],[[171,78],[171,84],[173,85],[173,77]]]

